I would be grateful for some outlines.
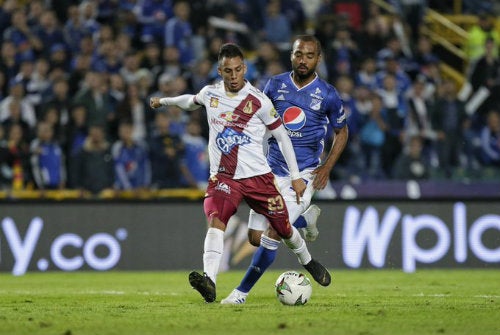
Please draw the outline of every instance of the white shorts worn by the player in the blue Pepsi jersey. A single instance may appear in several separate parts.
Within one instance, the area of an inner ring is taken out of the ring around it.
[[[312,169],[304,170],[300,173],[300,176],[306,182],[306,190],[304,195],[300,198],[300,204],[297,204],[297,199],[295,191],[292,188],[292,180],[290,177],[278,177],[276,176],[276,182],[281,192],[281,196],[285,200],[286,207],[288,209],[288,216],[290,218],[290,223],[293,224],[295,220],[309,207],[311,199],[314,194]],[[256,213],[254,210],[250,210],[250,215],[248,217],[248,228],[253,230],[265,231],[267,230],[268,222],[264,215]]]

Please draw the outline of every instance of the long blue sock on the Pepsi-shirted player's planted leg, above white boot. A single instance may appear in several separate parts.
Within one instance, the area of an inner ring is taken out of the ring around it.
[[[274,262],[276,253],[278,252],[277,249],[279,243],[279,241],[262,235],[261,245],[253,255],[252,262],[247,269],[247,273],[241,280],[240,285],[237,287],[238,291],[248,293],[252,289],[259,278],[262,277],[266,269]],[[266,247],[264,247],[264,245]]]

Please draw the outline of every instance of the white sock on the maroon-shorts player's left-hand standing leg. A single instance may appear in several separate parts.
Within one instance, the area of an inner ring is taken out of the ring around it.
[[[215,283],[224,249],[224,232],[217,228],[208,228],[203,247],[203,271]]]

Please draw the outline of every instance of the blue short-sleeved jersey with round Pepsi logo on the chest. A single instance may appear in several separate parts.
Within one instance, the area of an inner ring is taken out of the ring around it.
[[[346,124],[337,90],[319,77],[298,88],[292,80],[292,73],[287,72],[269,79],[264,93],[273,102],[287,129],[299,170],[316,168],[328,128],[342,128]],[[273,137],[269,139],[268,162],[275,175],[289,174],[285,158]]]

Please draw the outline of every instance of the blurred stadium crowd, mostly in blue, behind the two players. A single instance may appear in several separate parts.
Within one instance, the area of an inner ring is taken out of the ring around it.
[[[446,12],[448,1],[389,1],[396,15],[369,0],[0,3],[3,189],[203,189],[204,111],[152,110],[149,97],[217,79],[224,42],[244,48],[247,79],[263,88],[306,32],[348,114],[332,180],[500,178],[495,1],[463,1],[478,18],[468,90],[442,76],[447,60],[419,30],[426,8]]]

